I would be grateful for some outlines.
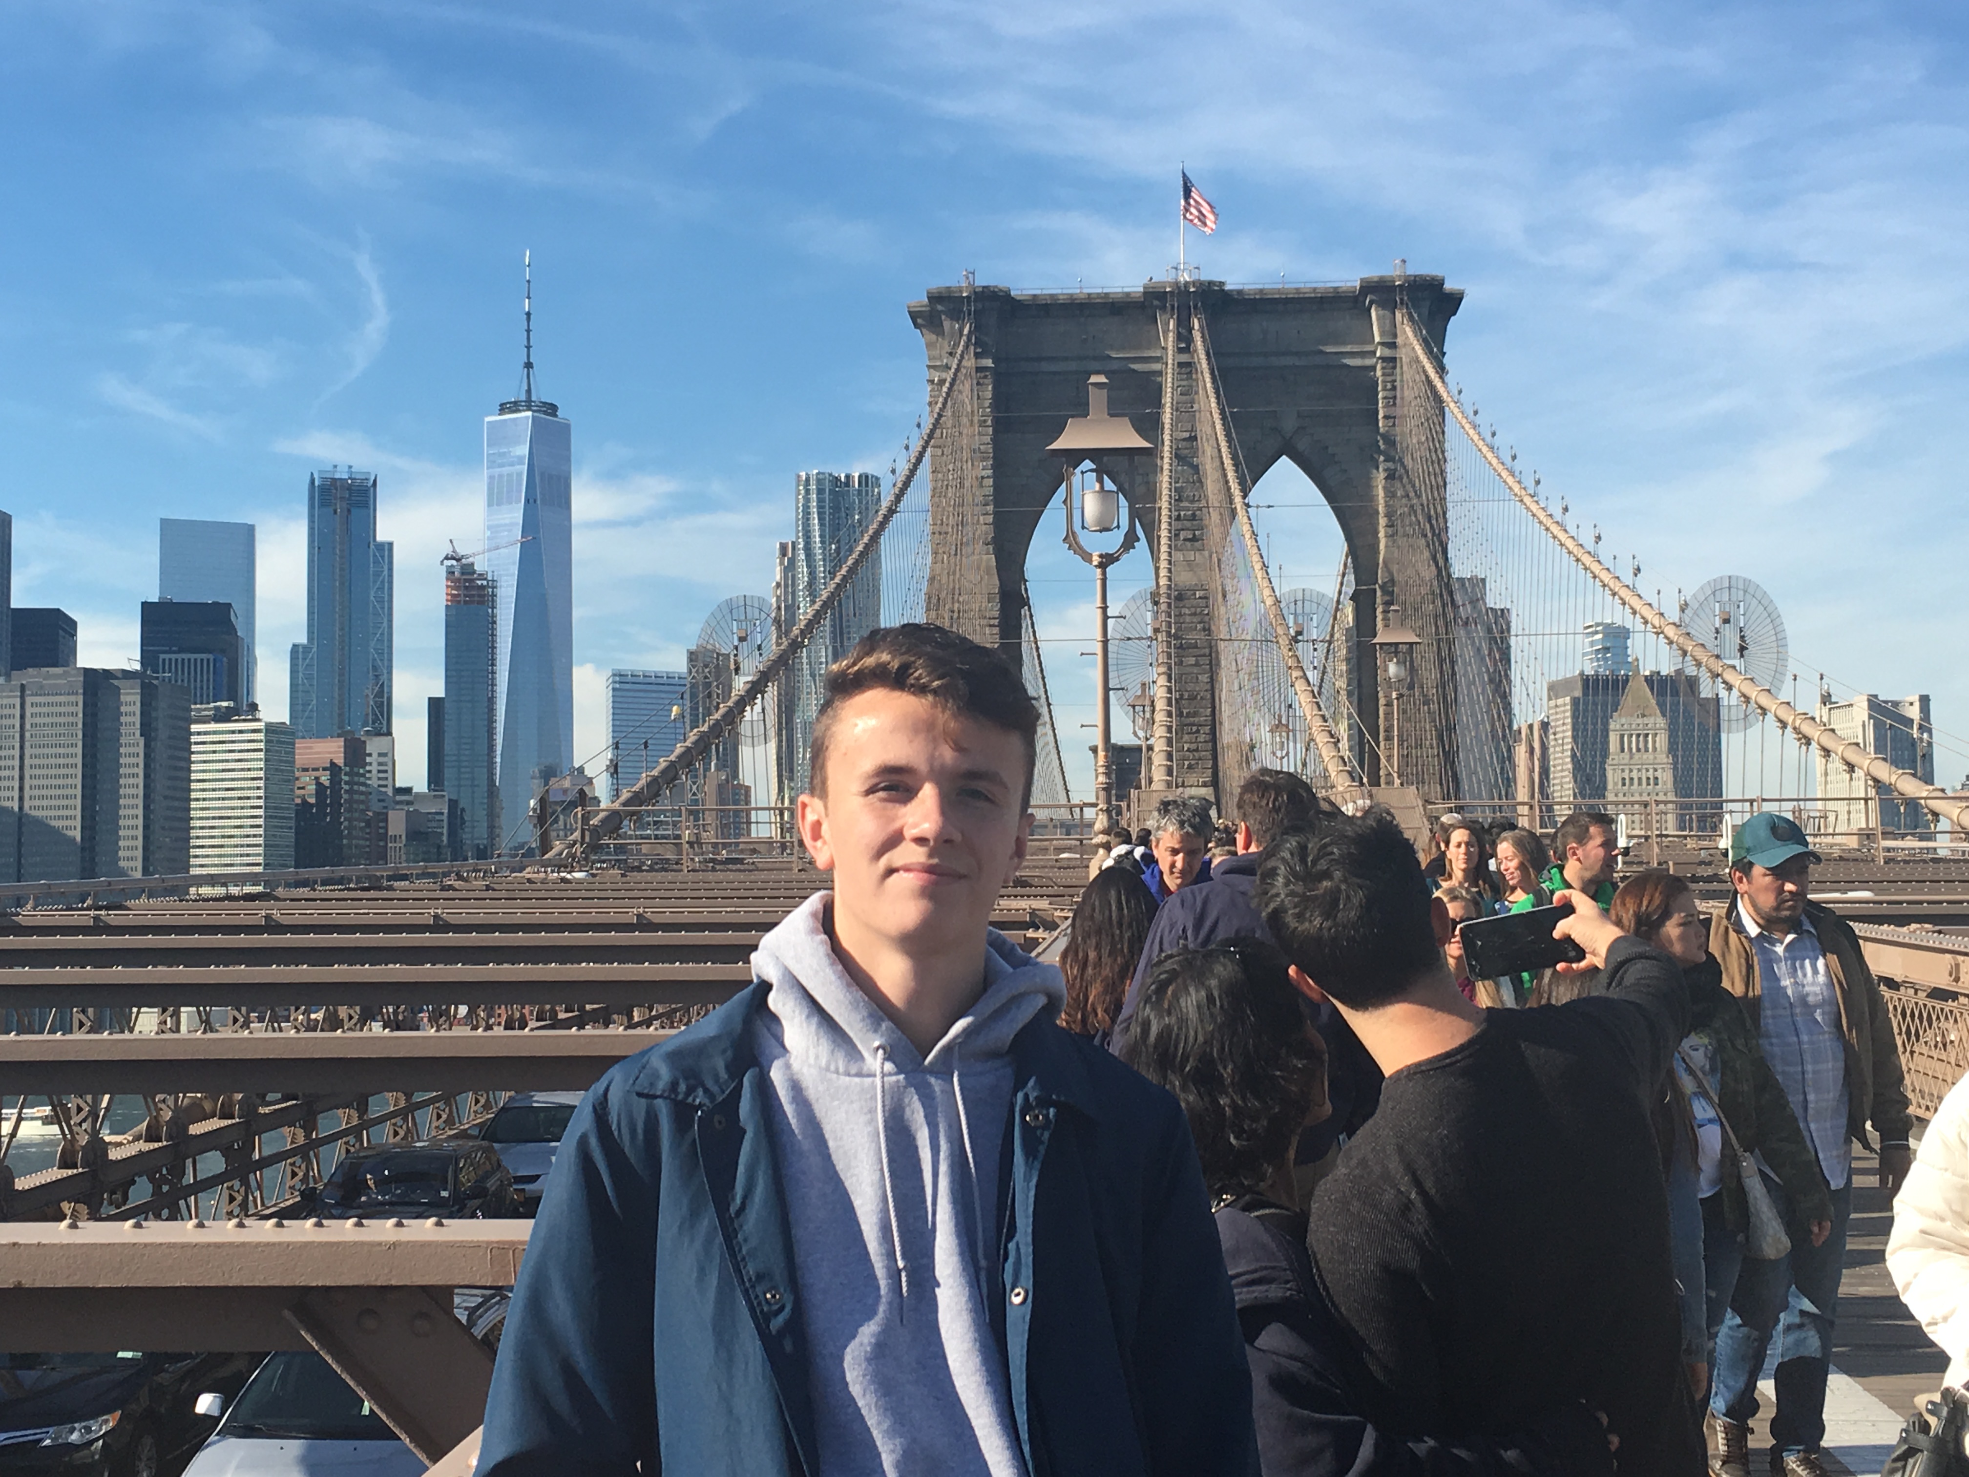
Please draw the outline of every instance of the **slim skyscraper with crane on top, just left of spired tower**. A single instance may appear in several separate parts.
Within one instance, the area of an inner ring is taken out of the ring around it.
[[[484,861],[504,839],[498,798],[498,603],[471,559],[445,559],[445,794],[459,802],[461,861]],[[435,784],[435,782],[433,782]]]

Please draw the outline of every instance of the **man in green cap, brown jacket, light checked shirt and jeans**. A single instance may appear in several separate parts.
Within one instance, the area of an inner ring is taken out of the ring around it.
[[[1821,1477],[1825,1381],[1853,1213],[1853,1140],[1869,1142],[1871,1121],[1888,1197],[1912,1162],[1908,1093],[1886,1002],[1859,937],[1831,908],[1810,900],[1817,861],[1796,821],[1752,815],[1729,849],[1737,896],[1709,928],[1723,985],[1743,998],[1833,1197],[1831,1235],[1817,1245],[1794,1241],[1792,1254],[1778,1260],[1745,1260],[1737,1278],[1709,1396],[1709,1469],[1717,1477],[1748,1477],[1748,1420],[1772,1333],[1778,1398],[1770,1469]],[[1770,1184],[1782,1211],[1784,1186]]]

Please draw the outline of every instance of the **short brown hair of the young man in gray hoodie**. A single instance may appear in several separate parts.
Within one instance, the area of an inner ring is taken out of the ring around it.
[[[977,719],[1016,733],[1026,750],[1026,786],[1018,803],[1024,807],[1032,800],[1040,709],[1018,670],[1002,652],[925,622],[876,626],[855,642],[853,652],[827,668],[825,697],[821,711],[813,715],[813,738],[807,746],[807,784],[813,794],[827,794],[827,744],[841,705],[866,691],[910,693],[953,719]]]

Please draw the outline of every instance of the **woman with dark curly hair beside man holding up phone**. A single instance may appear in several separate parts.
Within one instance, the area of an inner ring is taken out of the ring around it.
[[[1390,1436],[1372,1426],[1372,1388],[1327,1308],[1305,1254],[1292,1146],[1327,1113],[1325,1048],[1307,1026],[1286,955],[1258,939],[1175,949],[1148,973],[1128,1060],[1183,1105],[1217,1213],[1244,1353],[1264,1477],[1345,1471],[1607,1475],[1601,1422],[1565,1406],[1498,1442]]]

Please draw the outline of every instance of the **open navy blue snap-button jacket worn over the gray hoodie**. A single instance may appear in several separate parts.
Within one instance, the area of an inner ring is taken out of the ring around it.
[[[752,985],[612,1067],[514,1288],[478,1477],[817,1477]],[[1032,1477],[1248,1473],[1250,1377],[1181,1109],[1049,1020],[1012,1042],[996,1321]]]

